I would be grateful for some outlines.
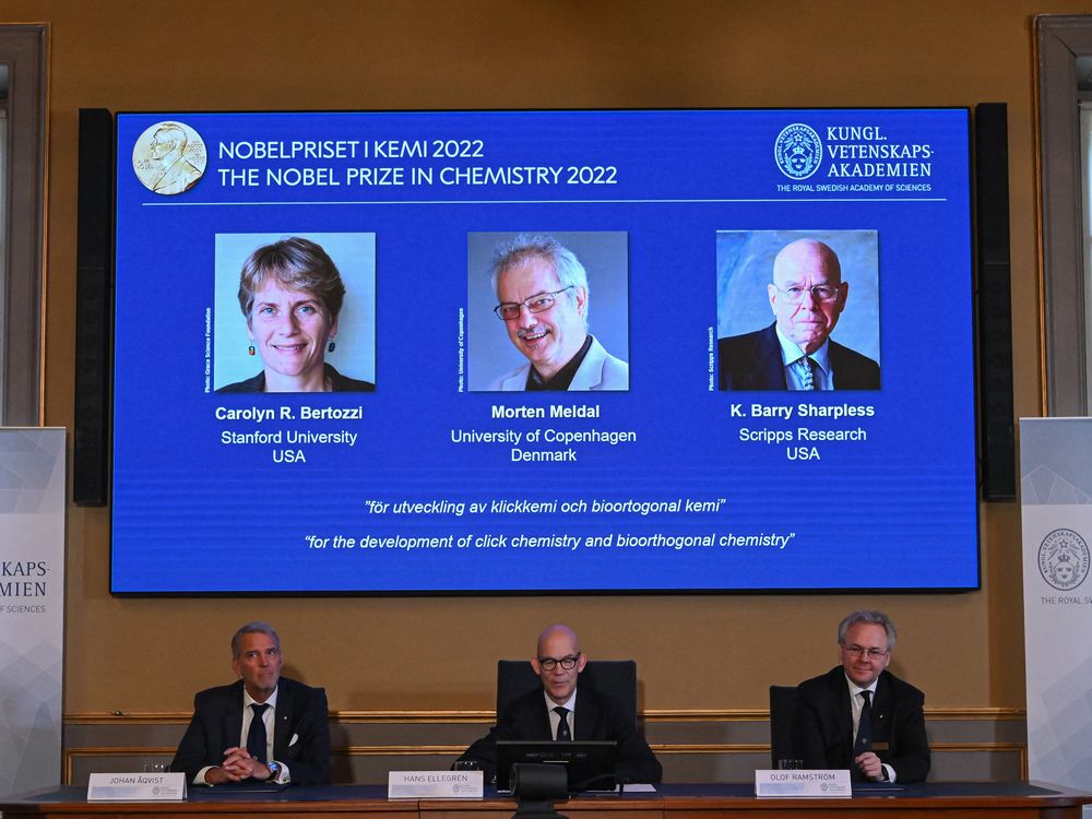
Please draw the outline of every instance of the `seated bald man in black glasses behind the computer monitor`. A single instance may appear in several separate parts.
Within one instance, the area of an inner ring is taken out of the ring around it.
[[[459,758],[477,762],[486,780],[497,772],[498,739],[614,739],[618,743],[618,778],[625,782],[660,782],[664,770],[633,719],[609,692],[577,681],[587,656],[575,633],[566,626],[550,626],[538,638],[531,665],[543,687],[520,697],[498,715],[488,736],[478,739]]]

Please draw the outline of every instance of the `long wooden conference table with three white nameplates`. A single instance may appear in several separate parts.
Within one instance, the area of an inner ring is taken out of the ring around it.
[[[86,788],[62,787],[0,803],[3,819],[234,819],[232,815],[282,819],[502,819],[515,812],[510,796],[487,788],[484,799],[388,799],[377,785],[289,787],[271,793],[233,793],[229,788],[191,788],[185,802],[87,802]],[[852,798],[755,797],[746,784],[661,785],[655,793],[580,796],[559,802],[570,819],[802,819],[880,817],[923,819],[1079,819],[1092,794],[1036,782],[949,782],[888,786],[855,792]]]

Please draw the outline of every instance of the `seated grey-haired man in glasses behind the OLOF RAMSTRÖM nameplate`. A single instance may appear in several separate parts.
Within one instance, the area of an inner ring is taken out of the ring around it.
[[[839,624],[842,664],[798,687],[793,747],[805,768],[846,768],[873,782],[925,780],[925,695],[885,670],[897,637],[882,612],[854,612]]]

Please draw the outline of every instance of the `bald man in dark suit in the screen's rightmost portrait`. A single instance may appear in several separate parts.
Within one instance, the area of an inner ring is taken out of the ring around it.
[[[767,289],[775,321],[717,342],[722,390],[880,389],[879,365],[830,337],[850,296],[830,247],[783,247]]]

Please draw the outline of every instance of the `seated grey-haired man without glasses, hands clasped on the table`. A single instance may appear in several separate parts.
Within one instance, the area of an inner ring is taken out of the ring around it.
[[[283,662],[281,638],[268,624],[236,631],[232,668],[240,679],[194,697],[171,770],[195,785],[329,783],[327,692],[282,677]]]

